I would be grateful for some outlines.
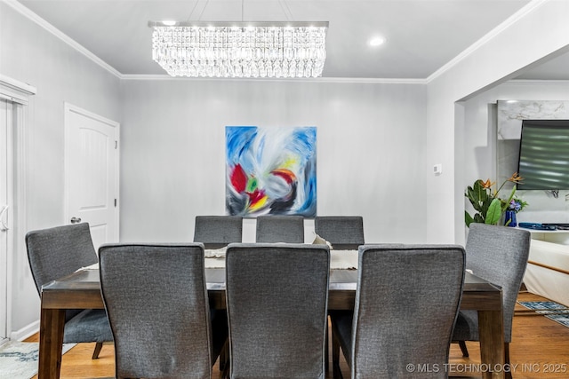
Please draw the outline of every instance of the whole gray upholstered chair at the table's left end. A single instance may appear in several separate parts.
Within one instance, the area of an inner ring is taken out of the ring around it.
[[[44,284],[96,264],[99,259],[87,223],[28,232],[26,247],[29,268],[40,296]],[[113,341],[103,309],[68,310],[63,330],[64,343],[94,342],[92,359],[99,358],[104,342]]]

